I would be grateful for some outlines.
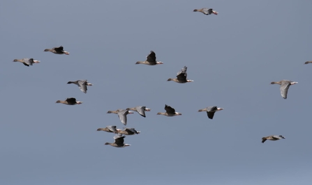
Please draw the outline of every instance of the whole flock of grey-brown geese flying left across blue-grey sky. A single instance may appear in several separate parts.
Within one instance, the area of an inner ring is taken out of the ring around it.
[[[216,10],[213,10],[212,8],[201,8],[201,9],[195,9],[193,12],[200,12],[205,15],[218,15],[218,12]],[[53,54],[66,54],[69,55],[68,51],[64,50],[64,47],[54,47],[52,49],[45,49],[44,51],[50,51]],[[20,62],[23,63],[24,65],[28,66],[33,65],[34,63],[40,63],[40,61],[34,60],[34,58],[22,58],[22,59],[14,59],[13,62]],[[312,63],[312,61],[307,61],[304,64],[309,64]],[[156,61],[156,54],[154,51],[151,51],[150,54],[147,56],[147,59],[145,61],[138,61],[135,64],[144,64],[144,65],[161,65],[163,62],[161,61]],[[191,79],[187,79],[187,73],[186,73],[187,67],[184,66],[179,72],[177,72],[177,77],[176,78],[170,78],[168,81],[174,81],[177,83],[188,83],[188,82],[193,82]],[[92,83],[89,83],[87,80],[77,80],[77,81],[68,81],[68,84],[74,83],[77,85],[80,90],[83,93],[87,93],[87,86],[92,86]],[[297,84],[298,82],[296,81],[290,81],[290,80],[281,80],[281,81],[273,81],[271,84],[278,84],[280,85],[280,91],[281,91],[281,96],[284,99],[287,99],[288,95],[288,89],[290,86]],[[66,104],[66,105],[76,105],[76,104],[82,104],[82,102],[77,101],[74,97],[68,97],[65,100],[57,100],[56,103],[61,103],[61,104]],[[217,107],[217,106],[208,106],[207,108],[202,108],[198,110],[198,112],[205,111],[207,113],[207,116],[209,119],[214,118],[214,113],[217,111],[221,111],[223,108]],[[126,125],[127,124],[127,115],[134,113],[132,111],[138,112],[142,117],[146,117],[145,111],[151,111],[151,108],[147,108],[146,106],[135,106],[133,108],[126,108],[126,109],[118,109],[116,111],[107,111],[107,113],[115,113],[118,115],[119,120],[121,121],[122,124]],[[168,106],[165,104],[165,112],[164,113],[157,113],[157,115],[165,115],[165,116],[176,116],[176,115],[182,115],[181,113],[178,113],[175,111],[172,106]],[[105,128],[99,128],[97,131],[106,131],[109,133],[114,133],[116,134],[114,136],[114,143],[105,143],[105,145],[111,145],[113,147],[127,147],[130,146],[129,144],[124,143],[124,138],[126,136],[124,135],[135,135],[135,134],[140,134],[140,131],[135,130],[135,128],[128,128],[124,127],[124,129],[118,129],[117,126],[112,125],[112,126],[107,126]],[[262,138],[262,143],[265,143],[266,140],[280,140],[280,139],[285,139],[284,136],[281,135],[272,135],[272,136],[265,136]]]

